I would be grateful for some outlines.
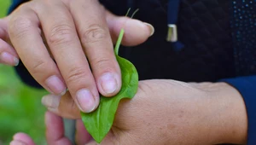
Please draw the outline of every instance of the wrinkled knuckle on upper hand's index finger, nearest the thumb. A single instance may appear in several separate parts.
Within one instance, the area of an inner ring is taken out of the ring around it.
[[[96,43],[108,37],[108,32],[100,25],[90,25],[81,35],[82,43]]]

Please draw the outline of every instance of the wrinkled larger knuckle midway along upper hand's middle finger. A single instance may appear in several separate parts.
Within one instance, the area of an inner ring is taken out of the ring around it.
[[[49,44],[70,44],[73,40],[73,28],[68,25],[53,26],[49,32]]]

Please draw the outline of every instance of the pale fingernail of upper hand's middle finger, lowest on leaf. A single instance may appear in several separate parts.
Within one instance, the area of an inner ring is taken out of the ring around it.
[[[96,102],[90,90],[82,89],[77,92],[79,108],[84,113],[90,113],[96,107]]]

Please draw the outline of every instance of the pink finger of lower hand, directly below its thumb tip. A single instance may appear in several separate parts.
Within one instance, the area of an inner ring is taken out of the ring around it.
[[[45,113],[46,140],[49,145],[72,145],[64,135],[64,125],[61,117],[54,113]]]

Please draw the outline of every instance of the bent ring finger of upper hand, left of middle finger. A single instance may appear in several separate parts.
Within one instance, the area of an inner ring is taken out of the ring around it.
[[[21,6],[9,22],[9,37],[20,59],[39,84],[53,94],[63,94],[66,85],[41,38],[37,14]]]

